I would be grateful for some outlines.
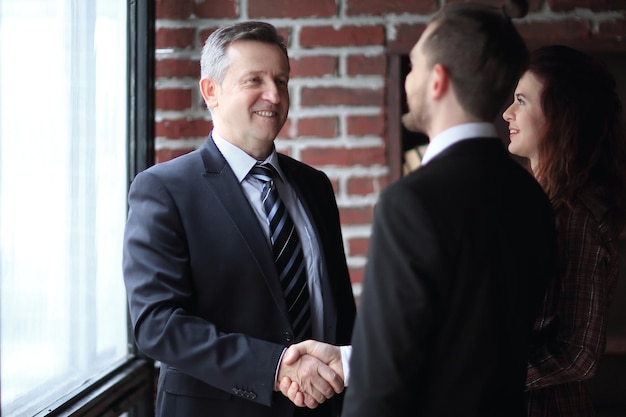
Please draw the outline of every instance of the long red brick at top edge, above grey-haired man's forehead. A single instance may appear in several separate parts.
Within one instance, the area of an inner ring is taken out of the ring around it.
[[[334,17],[335,0],[293,1],[252,0],[248,2],[248,15],[252,19],[289,17]]]

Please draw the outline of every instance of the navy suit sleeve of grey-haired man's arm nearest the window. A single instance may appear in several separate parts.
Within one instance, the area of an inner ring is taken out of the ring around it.
[[[150,171],[129,192],[123,272],[137,346],[211,386],[270,405],[283,346],[220,331],[194,315],[190,254],[172,194]]]

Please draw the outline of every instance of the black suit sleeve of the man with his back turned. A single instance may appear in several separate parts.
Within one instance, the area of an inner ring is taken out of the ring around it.
[[[345,417],[403,415],[433,331],[437,239],[414,193],[388,187],[376,206],[346,389]]]

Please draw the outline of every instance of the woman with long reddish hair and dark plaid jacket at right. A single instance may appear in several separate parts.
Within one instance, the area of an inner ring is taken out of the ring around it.
[[[615,80],[603,63],[565,46],[531,55],[503,114],[509,151],[528,158],[557,219],[560,274],[550,283],[526,380],[529,416],[594,415],[581,381],[594,375],[619,273],[625,138]]]

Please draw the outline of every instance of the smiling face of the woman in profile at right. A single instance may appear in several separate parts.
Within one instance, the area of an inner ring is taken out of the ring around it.
[[[531,72],[520,78],[513,103],[502,117],[509,123],[509,152],[528,158],[531,168],[539,161],[539,143],[546,132],[546,119],[541,109],[543,83]]]

